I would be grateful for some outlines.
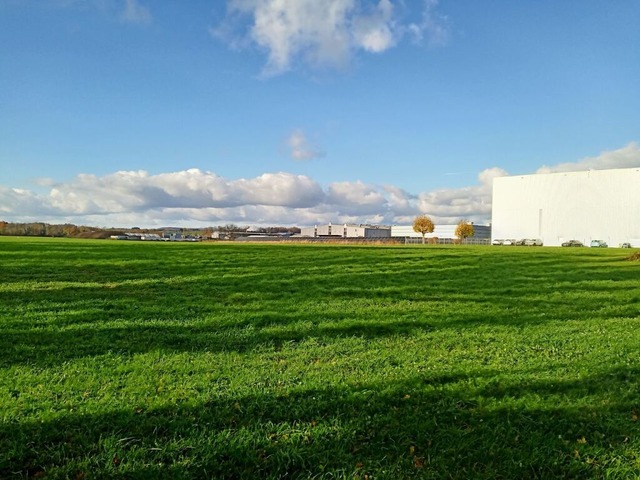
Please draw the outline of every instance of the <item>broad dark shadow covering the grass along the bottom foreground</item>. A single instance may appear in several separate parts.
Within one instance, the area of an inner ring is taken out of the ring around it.
[[[507,385],[452,373],[5,422],[0,477],[631,478],[639,373]]]

